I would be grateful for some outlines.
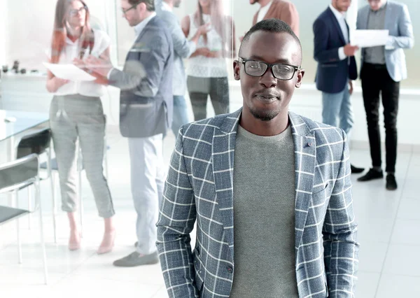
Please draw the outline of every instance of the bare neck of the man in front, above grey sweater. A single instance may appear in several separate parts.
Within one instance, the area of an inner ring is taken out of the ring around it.
[[[239,124],[251,134],[257,136],[276,136],[281,134],[288,127],[288,111],[281,111],[279,115],[269,121],[262,121],[255,118],[248,108],[242,109],[241,120]]]

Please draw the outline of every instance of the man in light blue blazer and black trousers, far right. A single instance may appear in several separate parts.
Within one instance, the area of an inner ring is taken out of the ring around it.
[[[359,181],[383,178],[381,168],[381,135],[379,132],[379,94],[384,106],[386,189],[396,190],[395,163],[397,159],[397,114],[400,81],[407,78],[403,49],[414,45],[413,27],[405,4],[386,0],[368,0],[360,8],[357,29],[389,30],[385,46],[364,48],[362,51],[363,101],[365,104],[367,132],[369,134],[372,169]]]

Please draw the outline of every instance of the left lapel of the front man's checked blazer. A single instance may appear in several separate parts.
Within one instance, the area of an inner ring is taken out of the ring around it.
[[[216,201],[225,229],[226,241],[233,247],[233,166],[237,126],[242,109],[227,115],[215,129],[211,156],[213,159]]]

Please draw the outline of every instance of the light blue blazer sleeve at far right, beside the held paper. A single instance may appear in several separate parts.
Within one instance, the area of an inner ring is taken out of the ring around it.
[[[409,17],[408,8],[402,6],[402,12],[398,17],[398,36],[389,36],[385,45],[385,50],[395,50],[398,48],[413,48],[414,34],[411,18]]]

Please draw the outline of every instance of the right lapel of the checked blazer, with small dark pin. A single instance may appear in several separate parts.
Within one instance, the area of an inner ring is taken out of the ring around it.
[[[289,113],[295,145],[295,249],[302,241],[307,220],[316,164],[316,142],[299,115]]]

